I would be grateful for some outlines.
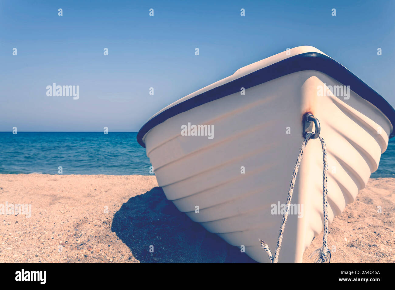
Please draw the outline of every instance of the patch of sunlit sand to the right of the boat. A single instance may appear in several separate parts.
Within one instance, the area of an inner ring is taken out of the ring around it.
[[[329,224],[331,263],[395,262],[394,213],[395,178],[369,179],[355,202],[348,204]],[[312,261],[308,256],[322,247],[322,236],[321,233],[313,239],[303,255],[303,262]]]

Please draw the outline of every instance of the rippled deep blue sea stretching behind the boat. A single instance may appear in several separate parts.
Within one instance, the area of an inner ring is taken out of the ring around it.
[[[153,175],[137,132],[0,132],[0,173]],[[296,156],[295,156],[296,159]],[[395,178],[395,138],[371,178]]]

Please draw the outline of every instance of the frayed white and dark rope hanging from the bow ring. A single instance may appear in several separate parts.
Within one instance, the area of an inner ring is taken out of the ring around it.
[[[280,227],[280,234],[278,235],[277,247],[276,247],[276,250],[275,250],[274,257],[272,255],[272,252],[269,249],[269,246],[267,245],[267,243],[265,243],[265,241],[259,239],[259,241],[261,242],[261,247],[267,253],[267,255],[269,256],[269,260],[271,261],[271,263],[277,263],[278,262],[278,255],[280,254],[282,237],[284,236],[284,228],[285,228],[285,224],[287,223],[288,212],[290,211],[290,204],[291,204],[291,198],[292,198],[292,193],[293,193],[293,187],[295,186],[296,175],[297,175],[297,172],[299,170],[299,165],[300,165],[300,162],[301,162],[302,157],[303,157],[303,152],[305,151],[305,147],[306,147],[307,142],[310,139],[311,135],[312,135],[312,133],[307,133],[306,134],[306,137],[305,137],[305,139],[302,142],[302,146],[300,148],[299,155],[297,157],[295,168],[293,168],[292,179],[291,179],[291,184],[290,184],[290,190],[288,191],[288,197],[287,197],[287,203],[286,203],[286,211],[284,212],[284,215],[282,216],[282,223],[281,223],[281,227]],[[314,251],[312,254],[318,252],[319,253],[318,254],[318,258],[316,258],[315,262],[324,263],[324,262],[327,261],[328,253],[329,253],[329,262],[330,262],[330,259],[331,259],[331,252],[329,251],[329,249],[327,247],[327,244],[328,244],[327,243],[327,239],[328,239],[328,198],[327,198],[327,195],[328,195],[328,188],[327,188],[328,164],[327,164],[327,161],[328,160],[327,160],[327,152],[326,152],[326,145],[325,145],[324,138],[322,138],[321,136],[318,136],[318,138],[320,138],[320,141],[321,141],[322,155],[324,157],[324,172],[323,172],[323,181],[322,181],[323,203],[324,203],[324,210],[323,210],[323,212],[324,212],[324,238],[323,238],[323,242],[322,242],[322,247],[320,249],[317,249],[316,251]]]

